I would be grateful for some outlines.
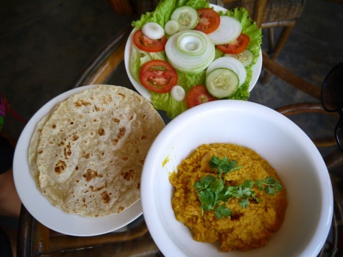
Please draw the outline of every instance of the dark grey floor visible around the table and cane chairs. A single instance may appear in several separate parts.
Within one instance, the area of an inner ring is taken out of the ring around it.
[[[116,15],[107,0],[1,1],[0,94],[15,112],[30,119],[44,103],[69,89],[92,56],[130,20]],[[320,87],[328,72],[343,61],[342,42],[342,0],[307,0],[278,63]],[[258,82],[250,100],[271,108],[318,102],[274,76],[267,85]],[[321,115],[292,119],[310,137],[333,135],[337,122]],[[23,127],[6,116],[4,130],[13,138]],[[324,156],[332,148],[320,151]]]

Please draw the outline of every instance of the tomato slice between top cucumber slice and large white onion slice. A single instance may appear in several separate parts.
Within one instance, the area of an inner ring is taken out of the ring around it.
[[[220,16],[215,10],[212,8],[202,8],[198,9],[197,12],[199,14],[199,21],[194,29],[209,34],[219,27]]]

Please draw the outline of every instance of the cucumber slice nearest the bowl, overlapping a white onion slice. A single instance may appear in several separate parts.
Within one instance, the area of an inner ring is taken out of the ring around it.
[[[210,94],[224,98],[236,92],[239,78],[235,72],[227,68],[218,68],[206,76],[206,88]]]

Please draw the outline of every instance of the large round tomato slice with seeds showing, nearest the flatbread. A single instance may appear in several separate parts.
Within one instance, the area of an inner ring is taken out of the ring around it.
[[[157,93],[167,93],[177,83],[177,73],[171,65],[162,60],[151,60],[142,66],[141,84]]]

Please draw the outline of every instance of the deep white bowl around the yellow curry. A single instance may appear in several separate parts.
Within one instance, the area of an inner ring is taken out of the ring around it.
[[[287,190],[284,222],[266,246],[246,252],[221,253],[213,244],[192,239],[175,219],[169,175],[204,143],[249,147],[277,171]],[[165,256],[317,256],[333,216],[333,192],[322,156],[310,138],[291,120],[263,105],[220,100],[180,114],[152,144],[141,180],[143,215]]]

